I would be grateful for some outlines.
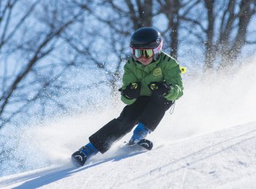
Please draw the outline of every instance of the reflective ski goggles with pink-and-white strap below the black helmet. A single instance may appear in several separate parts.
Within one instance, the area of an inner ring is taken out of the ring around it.
[[[132,55],[135,56],[136,59],[140,59],[142,56],[145,59],[150,59],[151,57],[153,57],[154,54],[157,54],[159,51],[161,51],[162,45],[163,45],[163,42],[161,41],[159,46],[156,47],[155,49],[151,49],[151,48],[132,48],[132,47],[130,47],[130,49],[132,51]]]

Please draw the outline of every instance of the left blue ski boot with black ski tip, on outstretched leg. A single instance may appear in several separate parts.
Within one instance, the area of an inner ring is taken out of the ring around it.
[[[92,145],[92,143],[87,143],[86,146],[81,147],[79,151],[73,153],[71,159],[73,164],[83,166],[89,158],[95,156],[98,152],[99,151]]]

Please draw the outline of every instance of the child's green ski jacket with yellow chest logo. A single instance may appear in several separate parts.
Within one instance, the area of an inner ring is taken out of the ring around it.
[[[177,61],[168,54],[161,52],[161,57],[156,62],[148,65],[143,65],[135,62],[135,59],[130,58],[124,65],[123,75],[124,90],[129,83],[141,83],[140,96],[151,96],[151,90],[148,84],[151,82],[167,82],[171,85],[171,92],[165,96],[169,101],[175,101],[180,96],[183,96],[183,81],[181,78],[180,65]],[[125,104],[133,104],[136,99],[127,99],[121,96],[121,101]]]

